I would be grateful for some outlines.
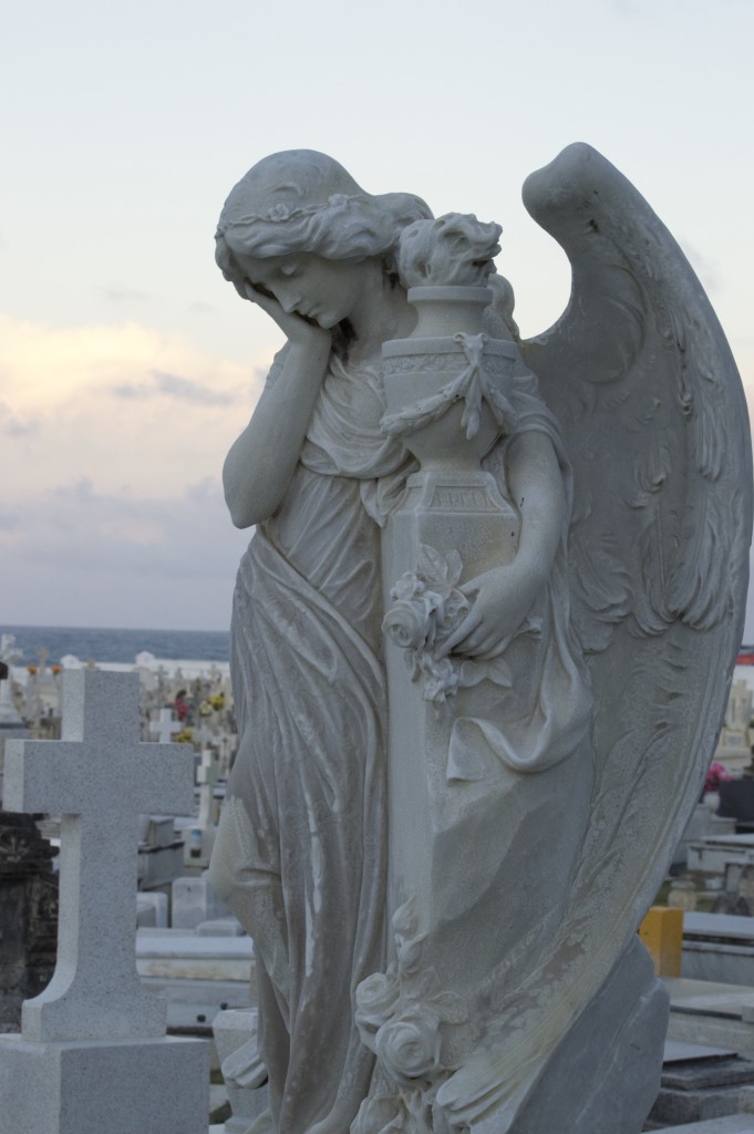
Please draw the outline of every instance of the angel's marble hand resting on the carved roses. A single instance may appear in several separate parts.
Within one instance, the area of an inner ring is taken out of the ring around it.
[[[520,570],[516,562],[493,567],[459,590],[472,599],[472,609],[435,657],[461,653],[481,661],[499,657],[531,610],[543,579]]]

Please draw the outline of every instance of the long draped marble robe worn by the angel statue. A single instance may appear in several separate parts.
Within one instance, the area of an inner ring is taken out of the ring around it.
[[[270,382],[280,369],[279,357]],[[528,400],[527,428],[552,434],[541,403]],[[383,412],[380,375],[333,359],[285,501],[259,525],[234,599],[240,744],[212,869],[254,938],[260,1043],[280,1134],[344,1134],[373,1068],[353,1006],[357,984],[384,967],[379,523],[415,467],[381,433]],[[564,666],[560,632],[539,651],[542,672],[527,675],[532,711],[541,712],[542,677],[553,666],[568,670],[577,741],[586,697],[567,651]],[[552,754],[532,736],[525,762],[549,767]]]

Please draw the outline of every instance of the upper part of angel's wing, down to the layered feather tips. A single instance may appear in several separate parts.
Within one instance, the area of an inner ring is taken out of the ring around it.
[[[568,308],[522,353],[574,465],[583,644],[605,649],[605,623],[629,613],[641,633],[677,618],[709,629],[746,570],[744,501],[723,475],[731,460],[744,491],[751,482],[746,405],[717,318],[668,230],[590,146],[532,175],[524,196],[573,266]]]

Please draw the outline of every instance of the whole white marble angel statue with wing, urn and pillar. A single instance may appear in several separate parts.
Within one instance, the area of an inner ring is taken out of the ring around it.
[[[573,268],[531,340],[497,226],[323,154],[259,162],[220,217],[223,274],[286,337],[223,472],[255,532],[211,874],[255,943],[255,1131],[636,1134],[656,1091],[636,929],[740,642],[746,406],[609,162],[570,146],[524,193]],[[476,291],[473,333],[422,313],[435,284]]]

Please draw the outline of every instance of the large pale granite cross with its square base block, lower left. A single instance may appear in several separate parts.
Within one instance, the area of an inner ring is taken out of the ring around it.
[[[61,741],[8,744],[6,810],[62,826],[58,965],[0,1038],[0,1134],[206,1134],[206,1046],[166,1036],[135,959],[138,816],[190,812],[194,760],[138,734],[137,676],[84,669]]]

